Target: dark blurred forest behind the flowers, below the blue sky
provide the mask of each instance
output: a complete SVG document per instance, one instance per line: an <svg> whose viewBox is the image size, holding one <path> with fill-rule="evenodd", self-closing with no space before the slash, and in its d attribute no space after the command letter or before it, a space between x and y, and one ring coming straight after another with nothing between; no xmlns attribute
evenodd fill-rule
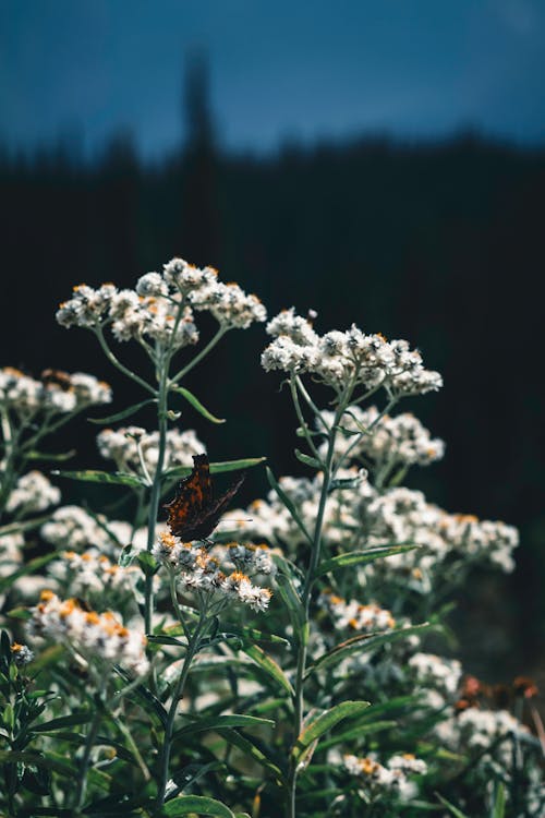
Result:
<svg viewBox="0 0 545 818"><path fill-rule="evenodd" d="M317 311L318 332L355 322L409 339L445 388L400 410L447 442L445 460L415 471L410 485L448 510L521 530L516 573L476 576L458 600L468 670L489 682L535 674L545 687L545 148L463 132L439 142L284 143L257 158L221 147L207 88L197 60L183 93L185 139L161 160L144 161L131 133L93 161L76 137L1 153L2 365L92 372L112 383L112 411L142 399L93 336L66 334L55 311L74 284L131 287L173 255L218 267L270 316L294 305ZM265 342L263 327L232 333L191 376L225 426L190 410L181 422L213 459L266 455L277 474L303 473L288 395L259 368ZM131 361L130 345L119 351ZM77 448L72 468L100 465L95 431L82 419L58 442ZM102 502L93 486L62 488L66 501L84 492ZM266 490L253 470L243 500Z"/></svg>

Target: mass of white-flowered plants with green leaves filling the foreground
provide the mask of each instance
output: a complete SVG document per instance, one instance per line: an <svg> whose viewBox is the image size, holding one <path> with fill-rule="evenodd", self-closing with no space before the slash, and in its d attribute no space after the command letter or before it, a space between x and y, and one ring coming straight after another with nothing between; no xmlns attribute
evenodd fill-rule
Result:
<svg viewBox="0 0 545 818"><path fill-rule="evenodd" d="M218 327L191 354L202 312ZM491 688L429 652L452 642L457 586L476 564L511 570L518 537L402 485L444 452L413 416L391 416L441 386L407 341L355 325L318 335L294 310L277 315L262 364L282 373L308 477L268 468L267 497L227 512L213 539L182 542L158 522L180 477L190 476L175 490L184 519L215 507L195 459L206 447L180 418L223 421L181 382L229 330L265 317L255 296L180 258L135 290L81 285L61 304L58 322L92 332L146 396L93 422L156 411L152 431L98 433L112 470L53 472L125 492L126 519L59 506L59 489L26 470L59 459L37 444L109 402L109 387L82 373L0 373L1 807L17 817L537 818L542 747L523 724L537 719L535 686L519 677ZM140 346L142 371L111 336ZM247 455L210 472L264 459Z"/></svg>

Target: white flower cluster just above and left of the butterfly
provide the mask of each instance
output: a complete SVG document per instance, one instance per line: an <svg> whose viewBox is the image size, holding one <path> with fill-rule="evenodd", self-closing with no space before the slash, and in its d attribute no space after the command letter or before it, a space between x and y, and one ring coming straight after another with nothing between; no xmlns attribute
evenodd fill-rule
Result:
<svg viewBox="0 0 545 818"><path fill-rule="evenodd" d="M159 432L146 432L141 426L105 429L97 435L100 455L113 460L119 471L142 472L140 456L146 469L154 473L159 457ZM205 446L192 429L167 431L164 469L172 466L191 466L193 455L205 452ZM140 455L138 455L140 452Z"/></svg>

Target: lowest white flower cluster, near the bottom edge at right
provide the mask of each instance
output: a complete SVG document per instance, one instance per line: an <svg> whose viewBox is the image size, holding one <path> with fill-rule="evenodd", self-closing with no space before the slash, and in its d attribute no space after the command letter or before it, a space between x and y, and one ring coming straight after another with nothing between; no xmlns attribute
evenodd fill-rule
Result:
<svg viewBox="0 0 545 818"><path fill-rule="evenodd" d="M374 798L391 798L393 801L410 801L417 794L417 786L409 780L409 775L425 775L426 762L413 755L392 756L387 766L383 766L371 757L343 756L343 766L348 773L355 775Z"/></svg>

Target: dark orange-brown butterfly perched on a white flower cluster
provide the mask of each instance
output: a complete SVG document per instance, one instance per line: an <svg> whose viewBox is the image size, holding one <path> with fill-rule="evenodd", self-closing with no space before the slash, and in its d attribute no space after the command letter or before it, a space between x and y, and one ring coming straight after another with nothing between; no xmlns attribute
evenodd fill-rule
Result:
<svg viewBox="0 0 545 818"><path fill-rule="evenodd" d="M245 477L243 472L225 494L214 500L208 457L194 455L193 471L180 481L174 498L165 504L170 532L184 542L206 541Z"/></svg>

